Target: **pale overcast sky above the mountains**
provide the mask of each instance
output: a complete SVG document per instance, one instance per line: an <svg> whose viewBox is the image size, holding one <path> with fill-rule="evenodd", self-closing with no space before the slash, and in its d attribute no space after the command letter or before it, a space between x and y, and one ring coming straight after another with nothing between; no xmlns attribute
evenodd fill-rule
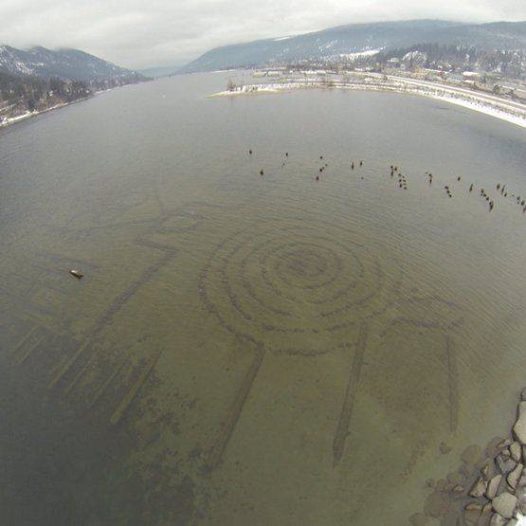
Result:
<svg viewBox="0 0 526 526"><path fill-rule="evenodd" d="M526 0L0 0L0 43L74 47L121 66L357 22L526 20Z"/></svg>

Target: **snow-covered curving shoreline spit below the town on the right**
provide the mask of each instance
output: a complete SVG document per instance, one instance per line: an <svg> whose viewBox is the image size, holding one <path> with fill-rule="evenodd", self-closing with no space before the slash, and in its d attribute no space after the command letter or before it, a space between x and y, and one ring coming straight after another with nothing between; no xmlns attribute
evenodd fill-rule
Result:
<svg viewBox="0 0 526 526"><path fill-rule="evenodd" d="M215 93L213 97L232 97L239 95L264 95L286 93L297 89L345 89L359 91L383 91L408 93L462 106L489 115L522 128L526 128L526 105L489 94L468 91L463 88L415 81L401 77L368 76L359 82L326 79L285 80L266 84L246 84L234 90Z"/></svg>

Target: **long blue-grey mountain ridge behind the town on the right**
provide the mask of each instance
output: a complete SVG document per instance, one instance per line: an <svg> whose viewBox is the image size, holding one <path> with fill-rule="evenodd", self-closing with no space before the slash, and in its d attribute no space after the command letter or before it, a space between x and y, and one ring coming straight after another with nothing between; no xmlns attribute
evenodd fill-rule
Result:
<svg viewBox="0 0 526 526"><path fill-rule="evenodd" d="M410 20L350 24L292 37L256 40L212 49L180 73L272 66L320 60L420 43L453 44L480 50L526 50L526 22L464 24Z"/></svg>

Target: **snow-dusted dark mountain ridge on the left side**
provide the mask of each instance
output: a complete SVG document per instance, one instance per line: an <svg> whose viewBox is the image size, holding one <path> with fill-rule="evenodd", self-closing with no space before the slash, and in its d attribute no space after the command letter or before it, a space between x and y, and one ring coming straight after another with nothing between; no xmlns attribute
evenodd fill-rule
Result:
<svg viewBox="0 0 526 526"><path fill-rule="evenodd" d="M0 72L83 82L108 80L112 84L146 80L136 71L116 66L84 51L50 50L40 46L29 50L0 46Z"/></svg>

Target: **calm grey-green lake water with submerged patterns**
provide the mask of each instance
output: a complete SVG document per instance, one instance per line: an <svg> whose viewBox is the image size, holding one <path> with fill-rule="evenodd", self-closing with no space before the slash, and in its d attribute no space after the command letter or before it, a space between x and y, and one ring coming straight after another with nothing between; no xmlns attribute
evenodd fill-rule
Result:
<svg viewBox="0 0 526 526"><path fill-rule="evenodd" d="M525 131L226 80L0 131L6 524L408 524L510 428Z"/></svg>

